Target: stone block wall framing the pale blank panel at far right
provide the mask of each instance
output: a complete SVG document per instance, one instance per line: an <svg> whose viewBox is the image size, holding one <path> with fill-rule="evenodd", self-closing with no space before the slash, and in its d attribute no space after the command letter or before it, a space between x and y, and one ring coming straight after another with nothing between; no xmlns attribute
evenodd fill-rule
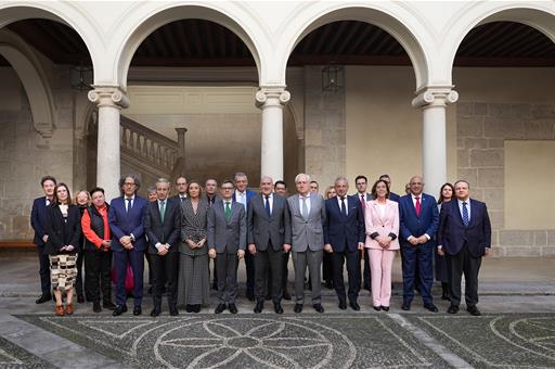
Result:
<svg viewBox="0 0 555 369"><path fill-rule="evenodd" d="M459 102L457 174L487 203L495 256L554 256L555 230L507 230L504 225L504 141L555 139L555 105Z"/></svg>

